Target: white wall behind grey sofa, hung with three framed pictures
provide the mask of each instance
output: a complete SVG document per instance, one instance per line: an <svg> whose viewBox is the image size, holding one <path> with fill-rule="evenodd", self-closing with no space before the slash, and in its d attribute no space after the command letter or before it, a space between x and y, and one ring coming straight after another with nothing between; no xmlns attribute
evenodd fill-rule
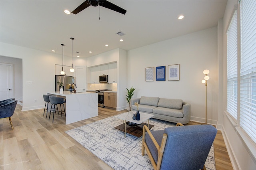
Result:
<svg viewBox="0 0 256 170"><path fill-rule="evenodd" d="M180 81L168 81L168 65L180 64ZM166 66L166 81L145 81L145 68ZM128 87L136 97L182 99L191 104L192 120L205 122L203 70L210 70L207 86L208 123L217 124L217 28L210 28L128 51ZM156 71L155 71L156 74Z"/></svg>

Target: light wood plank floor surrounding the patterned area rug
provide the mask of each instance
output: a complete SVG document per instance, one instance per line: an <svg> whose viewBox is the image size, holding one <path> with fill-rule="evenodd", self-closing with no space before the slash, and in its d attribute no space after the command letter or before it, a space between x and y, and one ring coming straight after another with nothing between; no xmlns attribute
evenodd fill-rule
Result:
<svg viewBox="0 0 256 170"><path fill-rule="evenodd" d="M9 119L0 121L0 170L112 169L65 131L123 112L99 108L99 116L65 125L64 116L54 117L52 123L43 116L43 109L22 112L17 105L12 116L14 130ZM217 170L233 169L221 131L214 140L214 152Z"/></svg>

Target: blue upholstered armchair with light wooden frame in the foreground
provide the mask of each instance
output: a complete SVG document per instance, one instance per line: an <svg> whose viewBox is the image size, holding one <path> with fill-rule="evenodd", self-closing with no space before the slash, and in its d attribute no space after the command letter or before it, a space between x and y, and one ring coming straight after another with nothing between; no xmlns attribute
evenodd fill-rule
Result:
<svg viewBox="0 0 256 170"><path fill-rule="evenodd" d="M142 155L146 152L155 170L198 170L216 136L212 125L169 127L150 131L143 127Z"/></svg>

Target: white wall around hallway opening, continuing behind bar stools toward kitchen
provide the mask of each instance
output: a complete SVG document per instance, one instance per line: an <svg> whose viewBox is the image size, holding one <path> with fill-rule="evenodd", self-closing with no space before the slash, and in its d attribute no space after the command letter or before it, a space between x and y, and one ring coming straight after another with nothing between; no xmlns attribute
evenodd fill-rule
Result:
<svg viewBox="0 0 256 170"><path fill-rule="evenodd" d="M62 64L62 55L2 42L0 55L23 61L22 111L44 108L42 95L55 90L55 64ZM64 57L64 65L71 65L71 57ZM86 59L73 57L74 65L86 65ZM33 81L33 84L26 84L26 81Z"/></svg>

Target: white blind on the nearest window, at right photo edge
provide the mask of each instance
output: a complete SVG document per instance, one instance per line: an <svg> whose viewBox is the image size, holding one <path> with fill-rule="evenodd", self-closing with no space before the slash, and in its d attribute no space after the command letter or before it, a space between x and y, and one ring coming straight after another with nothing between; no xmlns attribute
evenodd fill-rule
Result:
<svg viewBox="0 0 256 170"><path fill-rule="evenodd" d="M241 2L240 127L256 143L256 1Z"/></svg>

